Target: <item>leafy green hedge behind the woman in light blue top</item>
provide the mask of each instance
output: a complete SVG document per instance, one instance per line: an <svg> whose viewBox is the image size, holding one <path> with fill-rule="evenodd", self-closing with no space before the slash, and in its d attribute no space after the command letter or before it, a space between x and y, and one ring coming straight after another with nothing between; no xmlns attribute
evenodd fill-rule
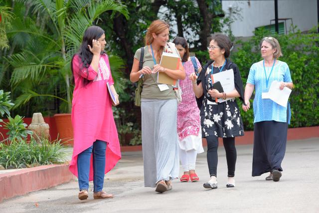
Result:
<svg viewBox="0 0 319 213"><path fill-rule="evenodd" d="M290 127L319 125L319 34L317 28L308 33L297 31L287 35L271 35L261 29L248 41L237 41L238 50L231 55L241 72L243 83L247 82L250 66L262 60L260 41L265 36L276 37L281 45L283 56L291 72L294 88L290 95L292 119ZM253 98L253 97L252 97ZM241 107L240 107L241 108ZM253 109L241 110L246 130L253 129Z"/></svg>

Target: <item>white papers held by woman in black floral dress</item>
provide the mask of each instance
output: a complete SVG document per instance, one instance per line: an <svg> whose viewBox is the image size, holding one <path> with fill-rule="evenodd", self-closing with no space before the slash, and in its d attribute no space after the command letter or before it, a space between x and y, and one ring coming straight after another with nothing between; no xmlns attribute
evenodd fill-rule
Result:
<svg viewBox="0 0 319 213"><path fill-rule="evenodd" d="M225 70L223 72L218 72L213 74L214 83L220 81L221 86L225 93L231 92L235 89L235 81L234 81L234 71L233 69ZM228 101L232 98L226 98L226 100L222 98L218 98L218 103L222 103Z"/></svg>

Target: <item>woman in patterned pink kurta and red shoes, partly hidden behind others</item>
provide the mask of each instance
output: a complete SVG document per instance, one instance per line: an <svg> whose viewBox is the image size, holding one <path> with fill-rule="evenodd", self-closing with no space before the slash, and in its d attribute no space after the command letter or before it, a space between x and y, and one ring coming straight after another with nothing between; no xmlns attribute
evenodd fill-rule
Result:
<svg viewBox="0 0 319 213"><path fill-rule="evenodd" d="M194 64L189 57L187 41L183 37L176 37L173 40L179 55L182 58L186 76L195 72ZM200 70L201 66L196 57L193 57L195 65ZM182 102L177 106L177 133L179 139L179 159L184 174L180 182L197 182L198 176L195 173L196 157L198 153L204 152L201 141L201 127L199 109L189 78L179 81L182 91Z"/></svg>

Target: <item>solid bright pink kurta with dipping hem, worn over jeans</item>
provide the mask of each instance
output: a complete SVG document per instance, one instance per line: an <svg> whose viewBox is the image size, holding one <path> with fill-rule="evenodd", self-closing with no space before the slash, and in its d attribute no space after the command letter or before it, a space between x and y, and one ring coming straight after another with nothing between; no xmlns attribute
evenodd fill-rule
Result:
<svg viewBox="0 0 319 213"><path fill-rule="evenodd" d="M101 55L99 72L96 73L91 66L82 67L81 59L76 55L73 59L73 75L75 88L72 100L72 126L74 132L73 155L70 163L70 171L78 176L78 155L93 145L96 140L106 141L105 173L109 172L121 159L118 132L115 126L111 98L106 83L114 84L109 58ZM93 80L85 87L83 78ZM93 181L93 157L90 162L89 180Z"/></svg>

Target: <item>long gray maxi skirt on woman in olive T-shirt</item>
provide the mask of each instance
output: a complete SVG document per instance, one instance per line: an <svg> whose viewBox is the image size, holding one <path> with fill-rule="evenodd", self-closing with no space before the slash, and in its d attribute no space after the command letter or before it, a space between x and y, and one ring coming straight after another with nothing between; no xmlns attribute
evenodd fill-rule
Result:
<svg viewBox="0 0 319 213"><path fill-rule="evenodd" d="M177 100L142 99L144 186L178 178Z"/></svg>

